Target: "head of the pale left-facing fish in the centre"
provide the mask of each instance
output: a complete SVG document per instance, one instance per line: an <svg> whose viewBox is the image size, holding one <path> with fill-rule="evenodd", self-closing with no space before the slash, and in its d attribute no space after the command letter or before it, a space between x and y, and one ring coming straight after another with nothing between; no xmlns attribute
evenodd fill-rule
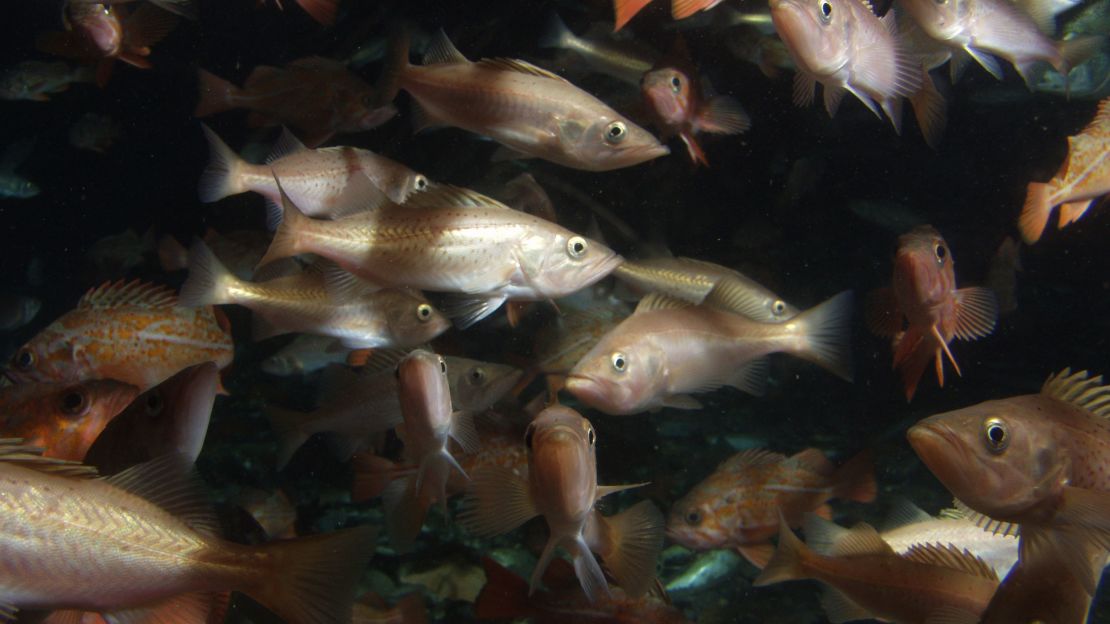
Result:
<svg viewBox="0 0 1110 624"><path fill-rule="evenodd" d="M654 342L622 331L607 333L571 369L566 390L578 401L612 415L658 406L666 359Z"/></svg>

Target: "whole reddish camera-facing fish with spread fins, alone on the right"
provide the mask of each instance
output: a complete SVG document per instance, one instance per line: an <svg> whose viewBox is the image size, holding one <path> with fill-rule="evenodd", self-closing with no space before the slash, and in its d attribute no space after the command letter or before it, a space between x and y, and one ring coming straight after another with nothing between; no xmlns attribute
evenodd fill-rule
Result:
<svg viewBox="0 0 1110 624"><path fill-rule="evenodd" d="M911 401L925 369L932 361L945 386L945 358L962 375L948 343L976 340L995 331L998 299L982 286L956 288L950 248L931 225L919 225L898 238L894 284L874 291L867 302L867 325L890 336L894 368L901 371L906 401Z"/></svg>

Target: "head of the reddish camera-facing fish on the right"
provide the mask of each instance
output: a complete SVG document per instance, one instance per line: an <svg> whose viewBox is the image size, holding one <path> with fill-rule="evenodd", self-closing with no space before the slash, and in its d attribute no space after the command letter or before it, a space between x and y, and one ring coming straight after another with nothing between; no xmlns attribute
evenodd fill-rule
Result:
<svg viewBox="0 0 1110 624"><path fill-rule="evenodd" d="M895 294L901 302L936 305L956 288L948 243L931 225L919 225L898 238Z"/></svg>

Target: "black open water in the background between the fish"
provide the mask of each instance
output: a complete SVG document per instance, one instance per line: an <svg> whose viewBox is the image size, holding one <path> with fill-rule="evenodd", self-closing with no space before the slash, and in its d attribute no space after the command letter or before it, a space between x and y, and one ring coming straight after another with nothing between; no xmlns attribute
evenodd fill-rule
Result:
<svg viewBox="0 0 1110 624"><path fill-rule="evenodd" d="M666 7L657 3L632 29L637 38L665 51L674 31ZM576 32L610 19L610 7L601 0L356 0L344 3L334 28L324 29L289 7L289 1L284 12L273 7L256 9L251 0L202 0L200 4L200 21L181 23L154 48L154 69L120 66L103 90L79 85L50 103L0 105L0 142L36 140L20 171L43 189L30 200L0 200L0 290L32 294L44 302L30 326L2 336L6 349L14 349L69 310L99 280L124 276L98 274L90 264L92 243L105 235L129 228L141 235L153 229L157 234L189 241L206 228L262 227L263 202L256 195L216 204L201 204L196 199L196 180L208 160L199 123L192 118L198 68L241 82L259 64L281 66L307 54L344 58L380 42L389 23L401 19L426 31L443 28L472 59L511 57L543 64L553 54L537 49L536 38L549 9L558 9ZM6 64L34 58L34 32L57 27L57 7L9 0L0 19ZM899 137L850 98L835 119L818 105L794 107L789 74L769 80L754 66L734 59L725 47L730 36L714 27L685 31L703 76L719 92L737 98L753 119L751 130L740 137L705 142L712 162L708 169L694 168L677 140L670 143L669 157L606 173L542 161L492 163L496 145L462 130L414 135L404 99L398 119L330 144L372 149L432 180L480 189L529 171L549 189L568 222L585 223L587 208L545 181L585 193L640 235L665 242L675 255L738 268L787 301L808 308L846 289L861 301L870 289L889 282L897 234L856 215L850 207L860 201L897 204L924 215L947 239L960 284L982 283L1001 241L1017 236L1015 223L1026 184L1056 172L1067 151L1064 138L1086 125L1097 105L1092 100L1026 92L1009 68L1003 84L971 68L947 89L948 128L940 148L932 150L908 114ZM380 64L372 63L357 73L373 82L379 70ZM604 78L591 78L581 85L638 119L635 90ZM109 114L122 125L120 141L107 154L78 151L67 143L69 124L89 111ZM249 138L276 134L248 130L244 117L225 113L208 122L234 147ZM807 184L788 188L790 172L798 168L816 173L808 175ZM604 223L602 229L617 251L635 253L618 233ZM948 383L940 390L928 372L909 404L890 370L889 345L871 335L857 314L854 383L776 356L771 389L765 397L726 389L704 396L706 407L697 413L665 410L606 416L584 410L599 432L599 481L657 482L646 495L666 511L735 452L726 439L746 436L779 452L818 446L841 459L874 449L879 500L875 505L837 506L841 524L881 519L895 493L929 511L946 506L949 494L917 461L905 442L905 429L941 411L1033 392L1049 373L1064 366L1110 371L1108 234L1107 211L1092 210L1063 232L1050 229L1036 245L1022 246L1017 310L1003 316L990 336L953 344L963 376L949 370ZM41 266L42 275L33 284L27 275L32 263ZM150 252L127 276L174 286L183 279L182 274L163 274ZM281 487L295 502L297 526L304 532L381 522L377 502L347 502L349 471L332 461L321 444L310 443L286 470L273 470L274 439L261 410L266 402L311 403L306 396L312 380L278 384L259 372L258 363L283 341L252 344L246 339L246 314L235 310L231 315L235 335L243 336L236 341L235 364L225 374L232 395L218 402L199 461L218 496L242 485ZM450 340L497 360L526 353L529 338L486 322ZM221 511L226 519L234 517L229 509ZM229 524L234 523L229 520ZM239 524L229 530L232 539L249 537ZM403 568L435 567L447 560L473 565L494 547L523 552L524 536L524 531L517 531L492 541L475 540L433 512L415 553L398 556L383 541L366 584L381 590L389 585L384 577L396 583ZM664 581L680 572L680 564L662 568ZM753 588L754 575L754 568L740 564L715 585L674 596L675 604L697 622L824 621L816 585ZM264 621L266 615L248 603L236 601L233 616ZM441 601L428 592L427 604L440 621L471 617L464 602ZM1099 601L1092 621L1110 622L1108 614Z"/></svg>

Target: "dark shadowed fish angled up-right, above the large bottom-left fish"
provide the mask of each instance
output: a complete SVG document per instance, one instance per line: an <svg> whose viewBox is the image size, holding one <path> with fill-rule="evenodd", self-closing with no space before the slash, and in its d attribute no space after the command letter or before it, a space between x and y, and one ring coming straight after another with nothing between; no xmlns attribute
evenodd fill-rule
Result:
<svg viewBox="0 0 1110 624"><path fill-rule="evenodd" d="M195 462L219 389L215 363L184 369L131 401L89 446L83 463L115 474L163 455Z"/></svg>

